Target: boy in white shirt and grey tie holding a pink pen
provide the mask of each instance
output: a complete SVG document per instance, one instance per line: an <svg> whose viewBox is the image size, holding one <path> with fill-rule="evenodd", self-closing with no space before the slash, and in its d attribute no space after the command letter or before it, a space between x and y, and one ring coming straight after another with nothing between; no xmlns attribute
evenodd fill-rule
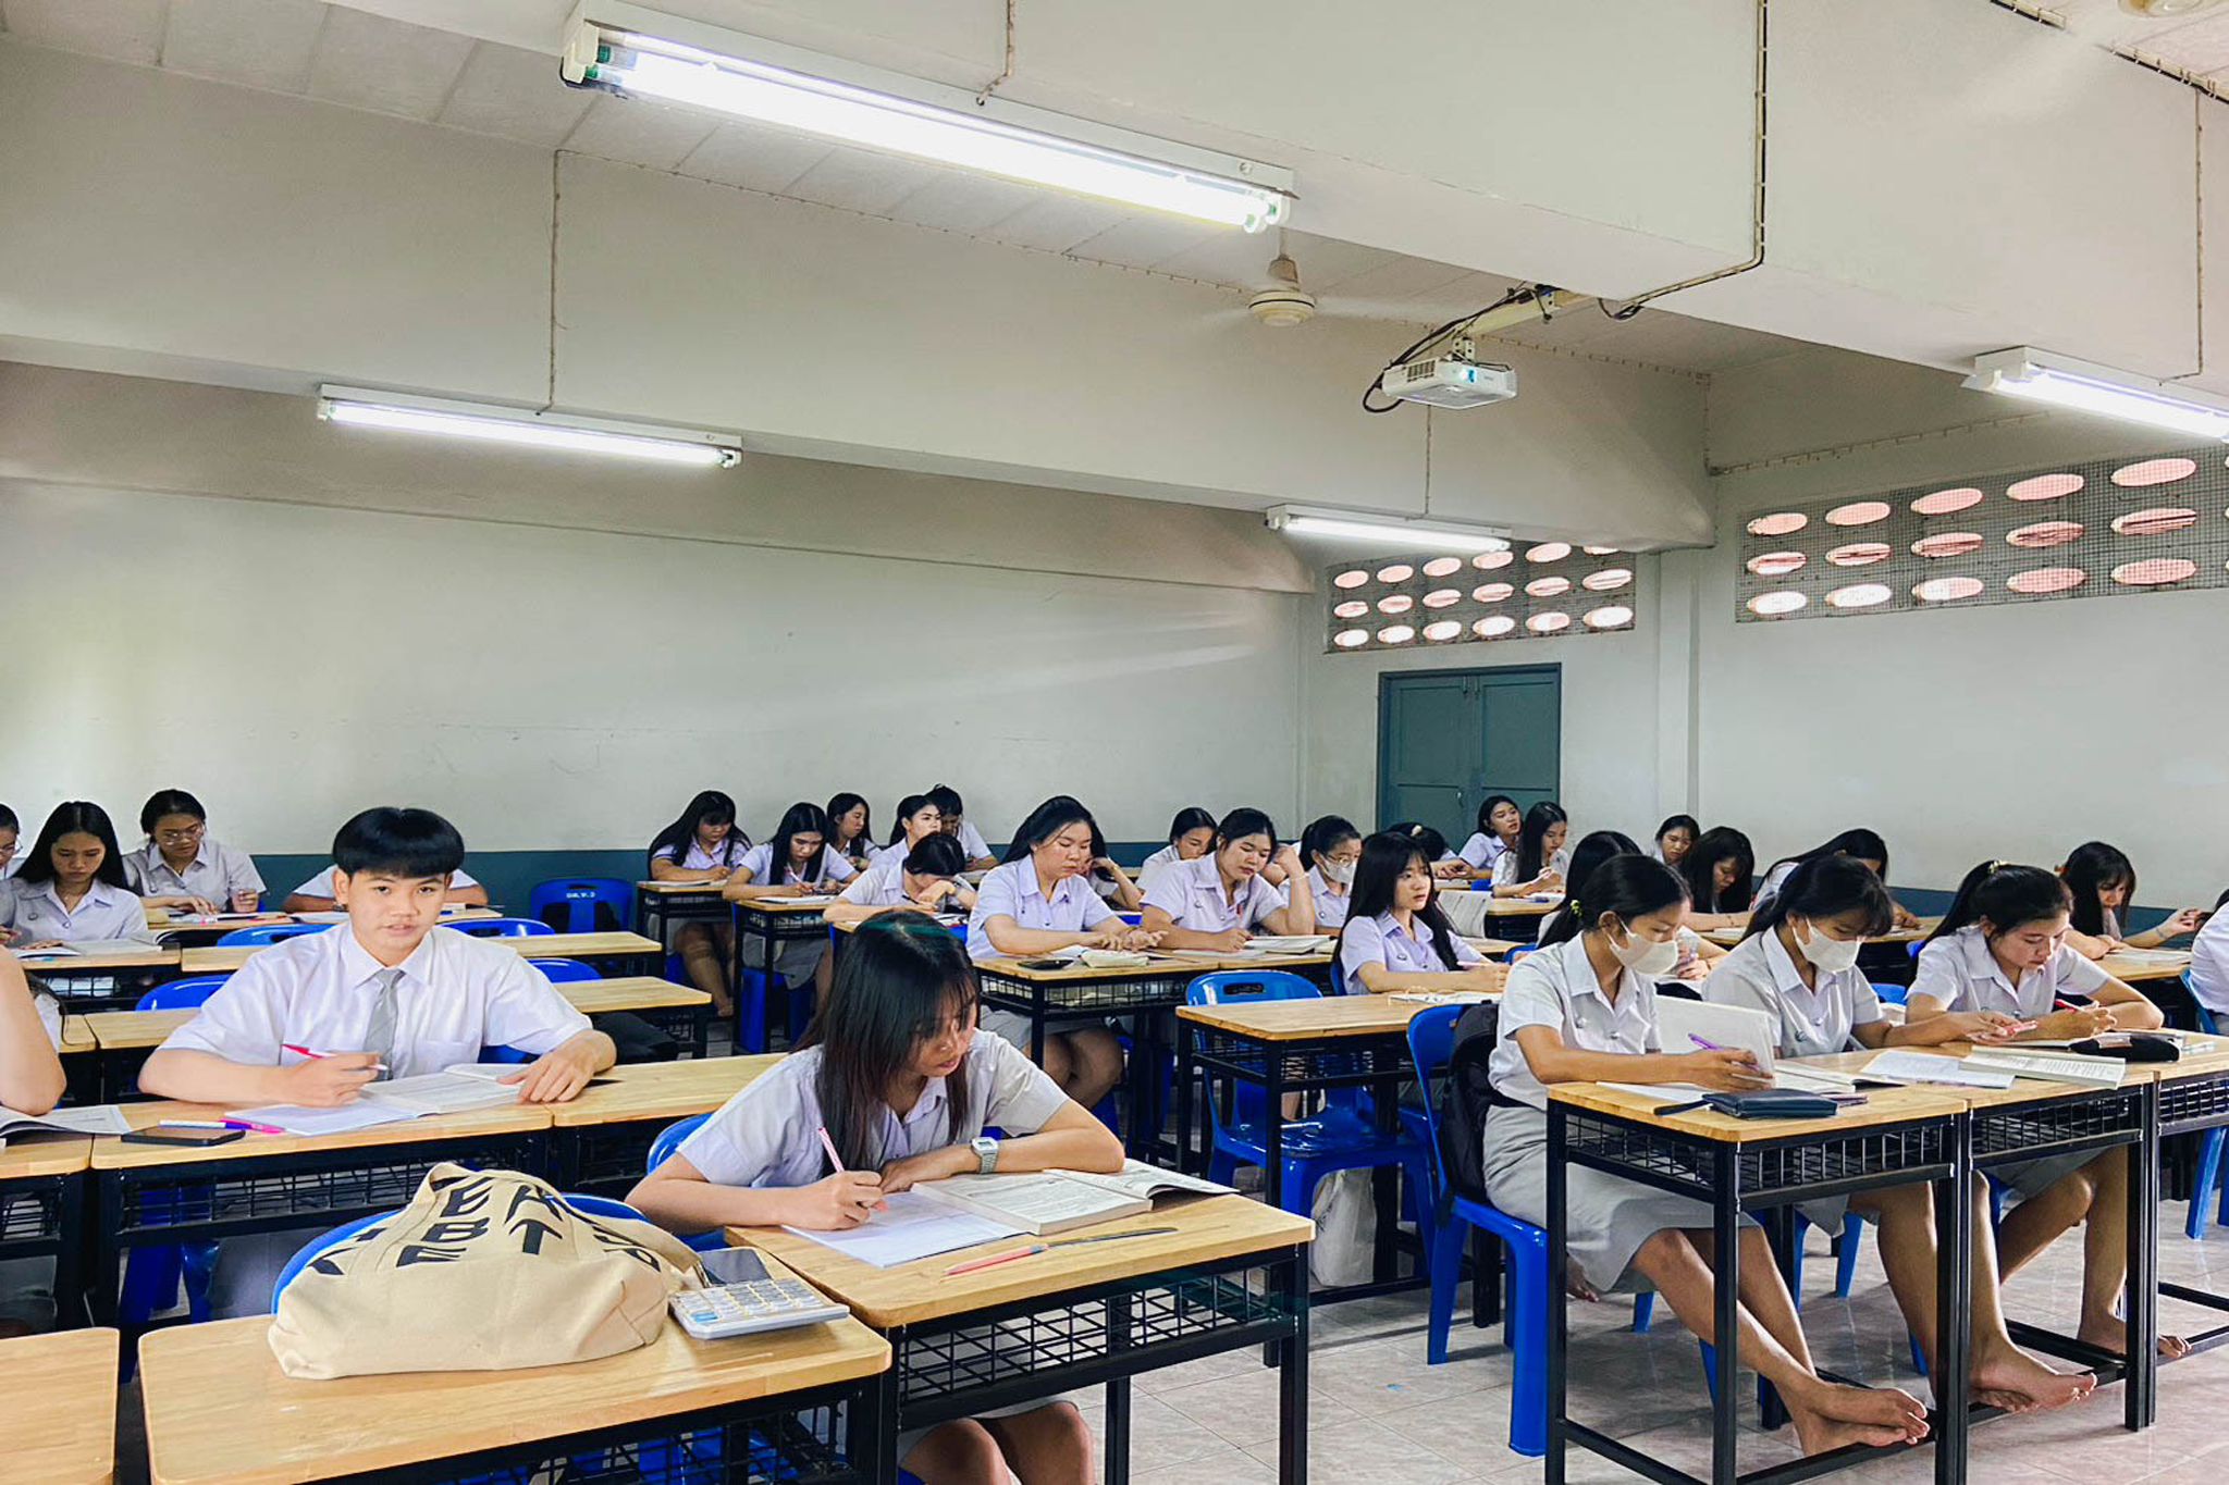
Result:
<svg viewBox="0 0 2229 1485"><path fill-rule="evenodd" d="M504 1082L524 1102L566 1102L613 1064L611 1037L588 1026L526 955L441 928L448 877L464 859L457 828L432 810L363 810L332 842L345 924L247 957L147 1058L140 1089L230 1109L354 1102L383 1078L477 1062L481 1046L535 1060ZM330 1051L301 1058L288 1046ZM270 1309L285 1258L319 1229L218 1247L212 1307Z"/></svg>

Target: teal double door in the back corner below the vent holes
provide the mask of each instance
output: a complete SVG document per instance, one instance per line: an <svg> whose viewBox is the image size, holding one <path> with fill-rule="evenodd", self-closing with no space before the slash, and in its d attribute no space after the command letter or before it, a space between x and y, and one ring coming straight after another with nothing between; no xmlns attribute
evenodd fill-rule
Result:
<svg viewBox="0 0 2229 1485"><path fill-rule="evenodd" d="M1378 677L1378 824L1420 819L1460 846L1487 795L1556 797L1560 666Z"/></svg>

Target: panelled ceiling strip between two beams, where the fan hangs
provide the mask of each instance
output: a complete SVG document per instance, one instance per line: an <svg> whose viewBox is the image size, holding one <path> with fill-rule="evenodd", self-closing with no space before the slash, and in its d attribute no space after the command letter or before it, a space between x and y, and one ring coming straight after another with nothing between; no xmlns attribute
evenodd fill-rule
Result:
<svg viewBox="0 0 2229 1485"><path fill-rule="evenodd" d="M564 7L555 9L562 16ZM0 0L0 31L36 47L1213 283L1233 292L1230 314L1242 314L1242 296L1266 283L1264 269L1277 252L1268 236L1197 227L782 129L575 91L557 80L546 53L323 0ZM1286 252L1300 263L1320 314L1389 321L1389 356L1406 343L1391 325L1456 318L1516 283L1308 232L1288 234ZM1306 334L1306 327L1264 334ZM1696 374L1808 347L1805 341L1670 312L1614 323L1592 307L1549 325L1509 330L1500 338Z"/></svg>

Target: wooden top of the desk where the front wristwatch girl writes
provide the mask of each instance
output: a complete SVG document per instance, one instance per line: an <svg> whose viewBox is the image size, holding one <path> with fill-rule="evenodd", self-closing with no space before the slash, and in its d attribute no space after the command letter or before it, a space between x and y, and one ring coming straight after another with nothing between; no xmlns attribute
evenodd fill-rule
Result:
<svg viewBox="0 0 2229 1485"><path fill-rule="evenodd" d="M729 1227L729 1242L749 1242L798 1271L823 1294L851 1307L867 1325L892 1327L936 1320L970 1309L1028 1300L1083 1285L1106 1285L1161 1269L1259 1253L1315 1238L1315 1222L1277 1211L1244 1196L1164 1198L1152 1211L1119 1222L1101 1222L1063 1236L1106 1236L1146 1227L1175 1227L1157 1238L1128 1242L1086 1242L1059 1247L1032 1258L1016 1258L974 1273L945 1276L956 1262L1025 1247L1032 1238L999 1238L952 1253L934 1253L914 1262L878 1269L847 1258L811 1238L780 1227Z"/></svg>

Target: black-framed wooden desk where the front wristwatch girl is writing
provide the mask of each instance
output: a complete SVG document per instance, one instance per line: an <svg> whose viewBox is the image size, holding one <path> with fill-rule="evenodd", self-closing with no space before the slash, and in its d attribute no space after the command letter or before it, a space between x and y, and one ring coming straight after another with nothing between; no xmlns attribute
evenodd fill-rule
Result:
<svg viewBox="0 0 2229 1485"><path fill-rule="evenodd" d="M1090 1242L945 1276L956 1262L1014 1247L1014 1238L876 1269L778 1227L731 1227L805 1280L885 1331L883 1427L967 1418L1028 1376L1043 1396L1106 1383L1106 1474L1126 1481L1130 1378L1246 1347L1275 1345L1279 1365L1279 1481L1306 1481L1308 1242L1315 1225L1244 1196L1166 1200L1150 1216L1094 1231L1175 1227L1135 1242ZM990 1394L990 1396L985 1396ZM1003 1400L1014 1400L1003 1396ZM878 1461L894 1478L896 1458Z"/></svg>

